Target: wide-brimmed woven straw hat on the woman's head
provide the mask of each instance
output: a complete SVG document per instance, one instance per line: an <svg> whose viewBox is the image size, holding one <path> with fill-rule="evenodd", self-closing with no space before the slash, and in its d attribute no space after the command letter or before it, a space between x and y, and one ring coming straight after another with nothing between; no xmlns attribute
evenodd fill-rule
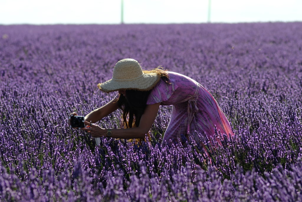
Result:
<svg viewBox="0 0 302 202"><path fill-rule="evenodd" d="M98 84L98 88L106 93L118 90L151 90L160 79L156 72L143 73L143 69L134 59L118 61L113 69L112 79Z"/></svg>

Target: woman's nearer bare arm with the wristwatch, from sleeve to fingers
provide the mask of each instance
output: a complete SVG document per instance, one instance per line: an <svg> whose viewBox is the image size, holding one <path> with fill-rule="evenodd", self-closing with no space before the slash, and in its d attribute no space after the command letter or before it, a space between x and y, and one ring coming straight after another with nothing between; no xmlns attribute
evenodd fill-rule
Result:
<svg viewBox="0 0 302 202"><path fill-rule="evenodd" d="M159 110L159 105L160 103L147 105L145 112L140 119L140 125L138 127L111 129L111 137L121 139L144 138L145 134L148 133L152 124L154 123L154 120ZM89 125L88 122L85 122L85 124ZM107 129L101 128L95 124L92 124L91 128L81 128L81 130L91 131L92 137L107 136Z"/></svg>

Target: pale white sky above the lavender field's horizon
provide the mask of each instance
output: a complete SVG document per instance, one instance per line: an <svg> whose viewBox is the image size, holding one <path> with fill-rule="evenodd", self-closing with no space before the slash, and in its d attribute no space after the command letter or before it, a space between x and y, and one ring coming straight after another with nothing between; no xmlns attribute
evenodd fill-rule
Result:
<svg viewBox="0 0 302 202"><path fill-rule="evenodd" d="M124 23L302 21L302 0L124 0ZM121 0L0 0L0 25L120 24Z"/></svg>

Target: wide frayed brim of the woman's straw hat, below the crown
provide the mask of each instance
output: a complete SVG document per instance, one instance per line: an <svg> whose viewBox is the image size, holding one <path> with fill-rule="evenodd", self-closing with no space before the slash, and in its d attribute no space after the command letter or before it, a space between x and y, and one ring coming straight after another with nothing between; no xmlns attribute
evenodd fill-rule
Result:
<svg viewBox="0 0 302 202"><path fill-rule="evenodd" d="M118 90L149 91L157 84L159 79L160 74L158 73L144 73L142 77L129 81L110 79L98 84L98 88L106 93Z"/></svg>

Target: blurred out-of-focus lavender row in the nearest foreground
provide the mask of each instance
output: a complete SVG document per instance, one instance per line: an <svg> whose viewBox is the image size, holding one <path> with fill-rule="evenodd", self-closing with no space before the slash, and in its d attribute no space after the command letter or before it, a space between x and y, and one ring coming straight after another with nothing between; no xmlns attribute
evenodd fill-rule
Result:
<svg viewBox="0 0 302 202"><path fill-rule="evenodd" d="M106 184L96 183L99 175L93 177L83 169L83 162L75 162L72 173L66 166L56 174L55 169L44 169L37 177L37 170L25 177L23 162L20 159L18 169L21 173L7 174L0 170L0 191L2 200L8 201L301 201L302 161L298 159L291 171L282 166L272 172L265 172L265 177L255 170L243 172L237 167L230 180L224 179L214 167L207 171L196 170L196 177L191 176L189 166L179 171L168 170L159 177L148 174L146 165L140 163L140 175L134 172L130 181L125 181L124 172L116 171L105 175ZM14 170L12 170L14 172ZM123 188L126 184L127 189Z"/></svg>

